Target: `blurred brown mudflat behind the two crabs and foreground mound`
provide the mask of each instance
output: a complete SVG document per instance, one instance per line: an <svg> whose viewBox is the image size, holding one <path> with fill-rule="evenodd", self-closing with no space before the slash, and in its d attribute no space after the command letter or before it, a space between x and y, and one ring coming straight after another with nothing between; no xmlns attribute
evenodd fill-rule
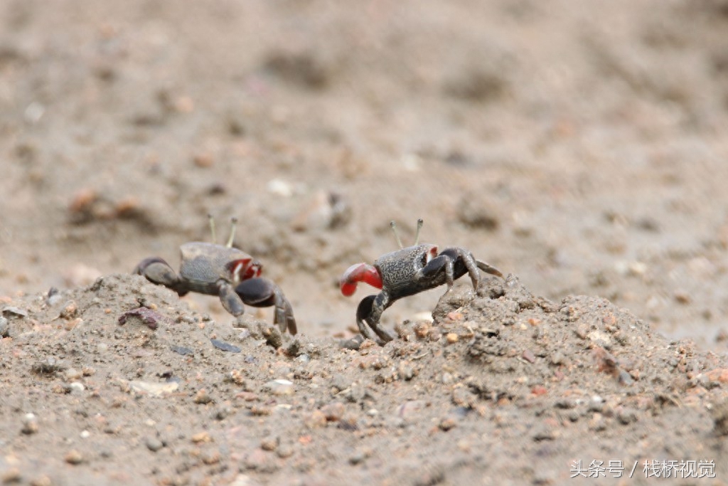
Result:
<svg viewBox="0 0 728 486"><path fill-rule="evenodd" d="M0 0L0 157L6 301L177 267L211 213L302 332L346 335L373 292L339 275L422 217L534 294L728 347L726 0Z"/></svg>

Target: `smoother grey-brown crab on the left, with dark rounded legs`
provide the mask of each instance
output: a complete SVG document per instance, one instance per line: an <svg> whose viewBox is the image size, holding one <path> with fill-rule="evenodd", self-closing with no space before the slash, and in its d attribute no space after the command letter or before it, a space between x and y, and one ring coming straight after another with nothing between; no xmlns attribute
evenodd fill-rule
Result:
<svg viewBox="0 0 728 486"><path fill-rule="evenodd" d="M281 332L296 334L293 309L280 288L261 277L262 265L244 251L233 248L237 219L231 219L230 237L226 245L215 242L215 220L210 218L213 243L194 241L180 246L179 274L158 256L143 259L133 273L153 283L169 287L181 296L188 292L217 295L225 310L239 317L245 304L253 307L275 306L274 324Z"/></svg>

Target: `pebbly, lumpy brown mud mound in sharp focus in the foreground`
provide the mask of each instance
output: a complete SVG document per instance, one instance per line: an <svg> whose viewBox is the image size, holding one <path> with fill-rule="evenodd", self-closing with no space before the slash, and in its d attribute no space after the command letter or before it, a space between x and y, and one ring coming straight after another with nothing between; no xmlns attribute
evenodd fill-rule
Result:
<svg viewBox="0 0 728 486"><path fill-rule="evenodd" d="M384 347L304 323L277 347L269 323L216 323L133 275L2 308L4 482L728 477L724 359L513 275L456 286Z"/></svg>

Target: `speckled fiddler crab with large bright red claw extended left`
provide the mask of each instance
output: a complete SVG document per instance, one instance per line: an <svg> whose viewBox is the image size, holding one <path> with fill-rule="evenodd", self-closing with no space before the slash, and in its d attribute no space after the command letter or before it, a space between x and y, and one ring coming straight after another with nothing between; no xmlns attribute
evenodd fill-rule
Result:
<svg viewBox="0 0 728 486"><path fill-rule="evenodd" d="M379 325L379 318L381 318L381 313L397 299L434 289L443 283L448 286L445 291L447 294L452 289L454 281L466 273L470 275L473 288L478 289L480 283L478 269L503 278L503 274L498 269L491 267L486 262L476 260L465 248L454 246L438 253L438 247L435 245L418 244L422 224L422 219L418 219L414 245L404 248L402 240L397 234L395 222L392 221L390 226L395 233L400 249L380 256L371 265L353 264L339 279L341 294L347 297L354 294L359 282L365 282L381 289L377 295L364 297L357 307L359 331L364 337L379 342L379 344L395 338L387 329L383 329ZM376 333L379 340L373 336L372 331Z"/></svg>

